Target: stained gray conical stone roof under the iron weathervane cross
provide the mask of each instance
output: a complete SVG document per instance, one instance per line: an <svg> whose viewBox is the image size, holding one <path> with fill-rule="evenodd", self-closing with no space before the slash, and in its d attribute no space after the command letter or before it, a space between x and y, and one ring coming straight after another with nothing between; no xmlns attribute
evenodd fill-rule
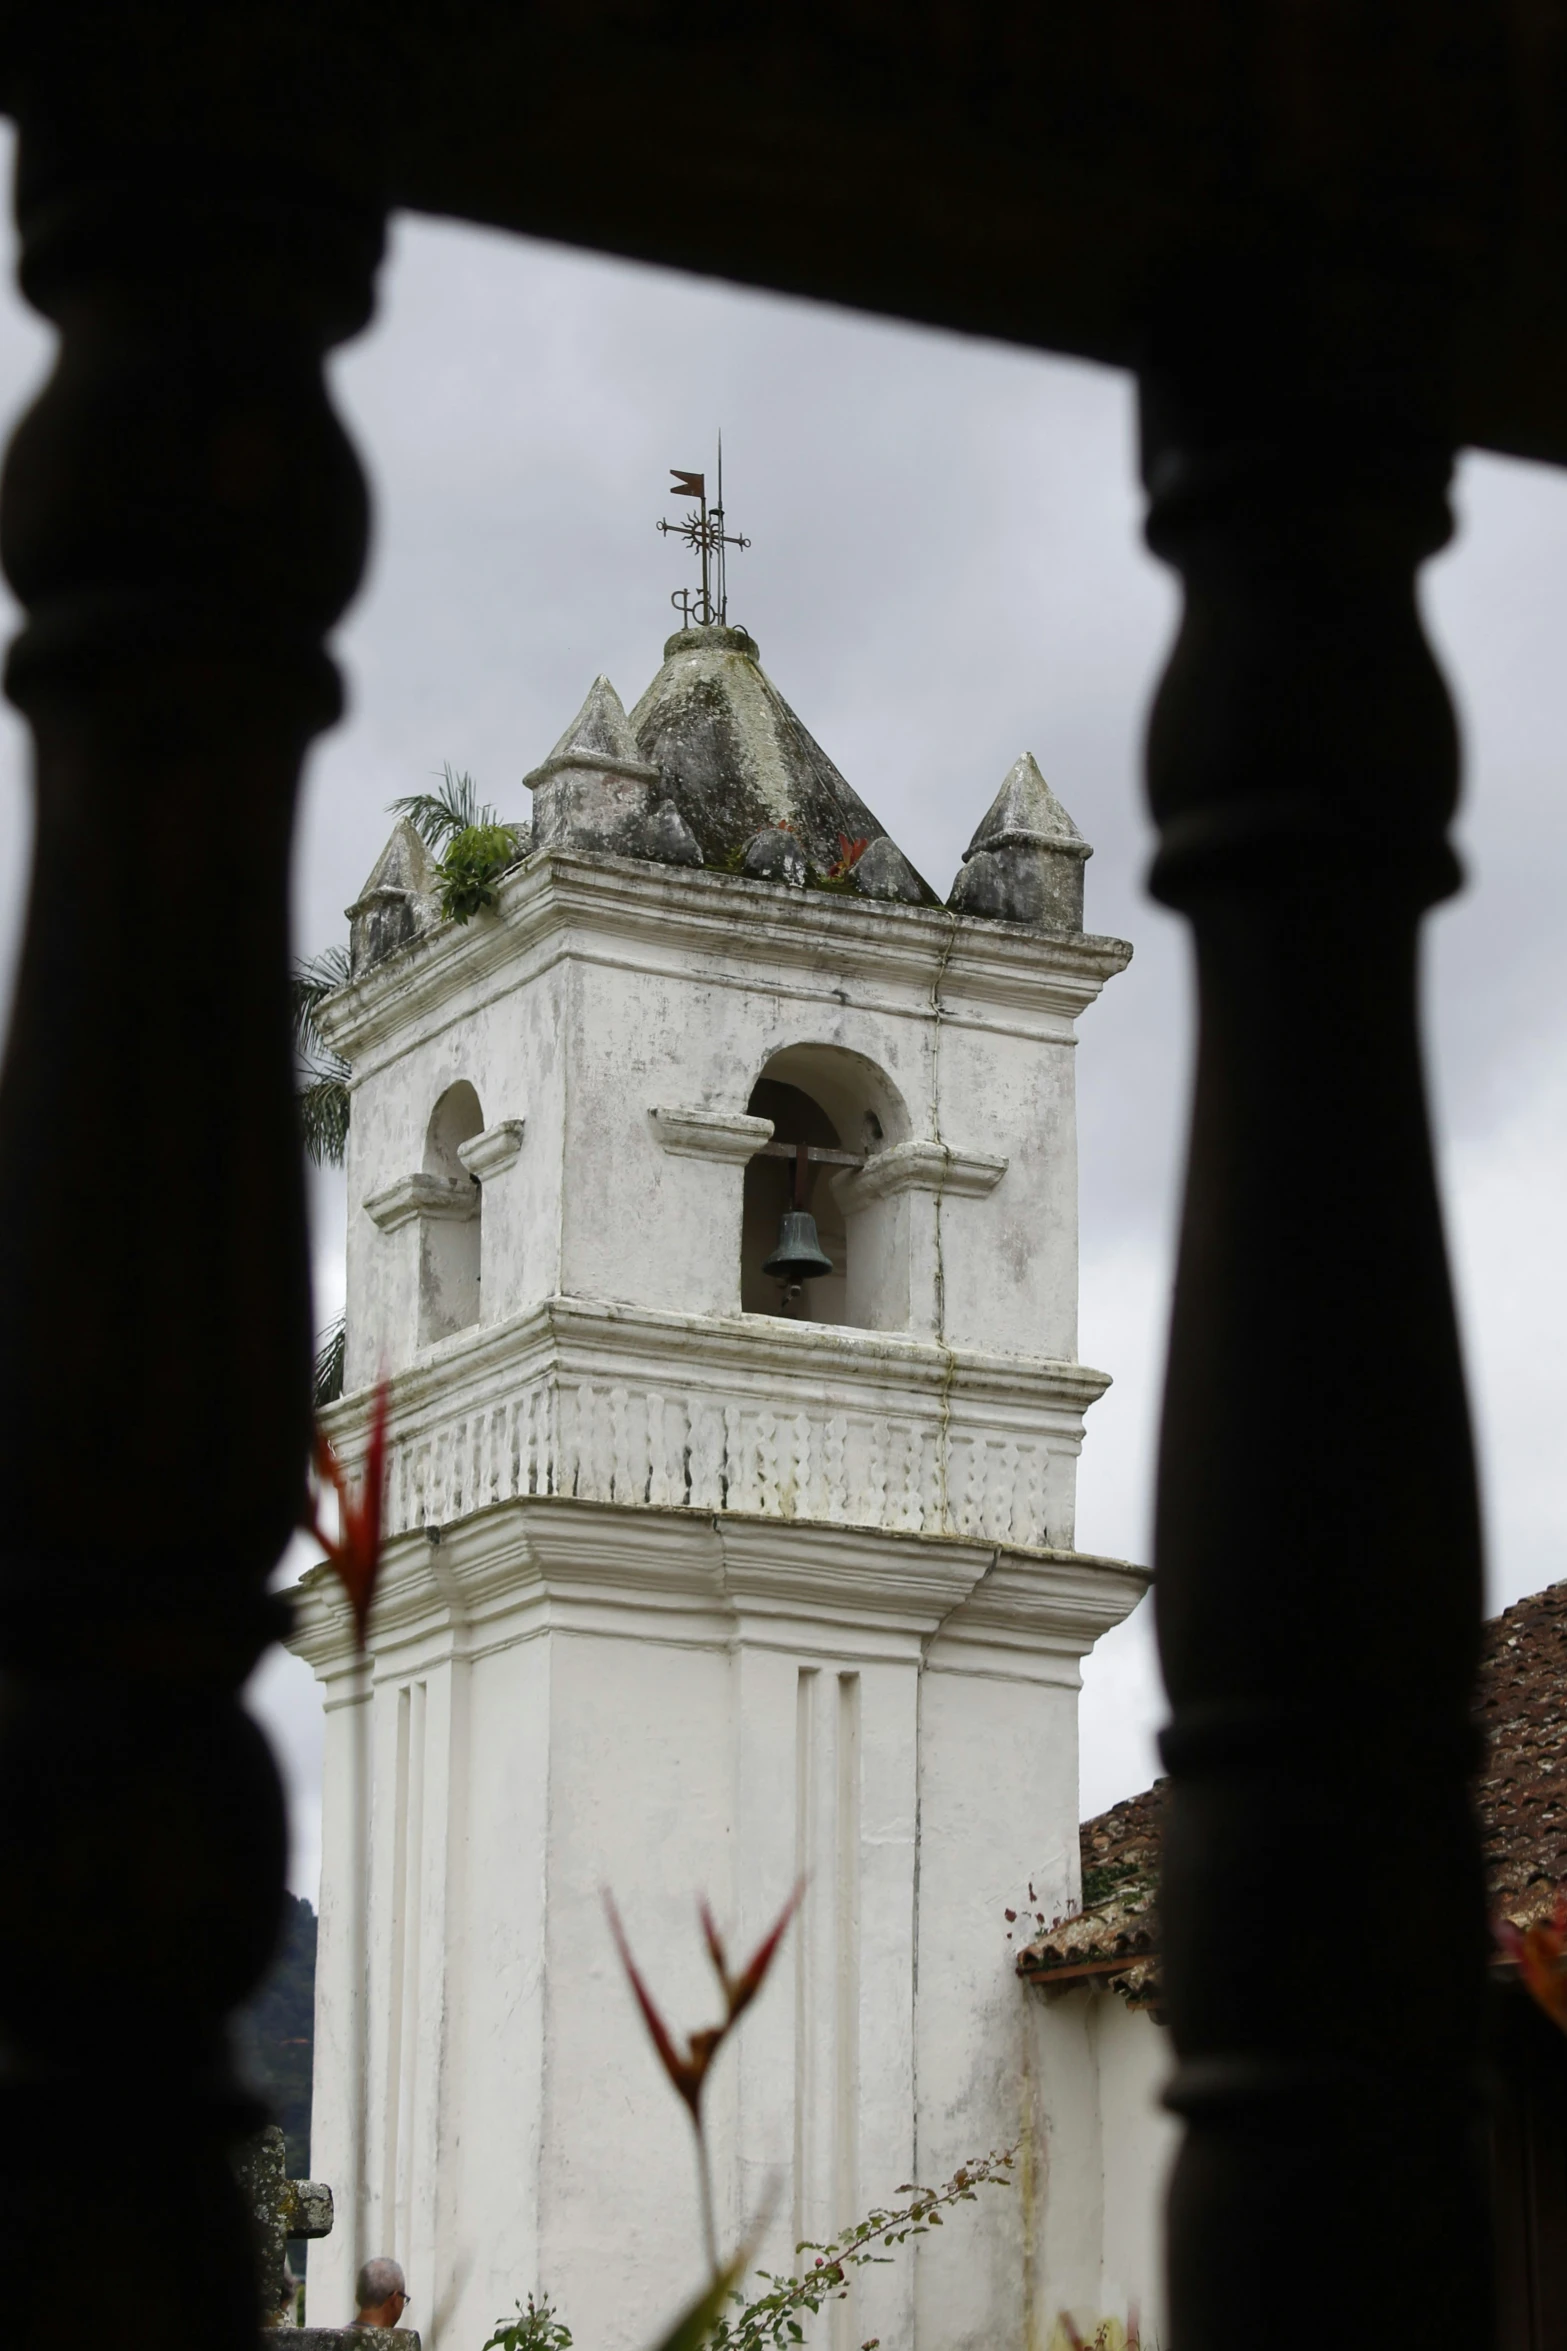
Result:
<svg viewBox="0 0 1567 2351"><path fill-rule="evenodd" d="M801 726L742 628L681 628L632 710L637 752L663 771L707 865L735 863L768 825L787 825L827 872L850 842L886 825ZM909 868L912 870L912 868ZM921 882L923 900L937 905Z"/></svg>

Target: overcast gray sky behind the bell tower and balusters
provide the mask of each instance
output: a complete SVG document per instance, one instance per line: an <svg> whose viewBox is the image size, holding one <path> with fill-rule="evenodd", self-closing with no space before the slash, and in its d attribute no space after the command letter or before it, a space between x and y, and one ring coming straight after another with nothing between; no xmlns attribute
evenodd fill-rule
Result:
<svg viewBox="0 0 1567 2351"><path fill-rule="evenodd" d="M9 266L5 287L9 423L49 336L9 294ZM442 759L522 816L522 773L599 670L630 708L684 578L653 531L677 513L667 468L705 465L719 426L731 520L754 541L731 562L731 616L937 889L1010 762L1036 752L1095 844L1090 929L1137 950L1081 1025L1081 1352L1116 1385L1088 1425L1078 1545L1144 1559L1189 983L1182 926L1142 889L1139 734L1175 592L1139 543L1128 383L430 221L397 226L378 322L334 360L334 381L376 538L338 642L350 717L310 762L301 950L343 936L388 802ZM1471 891L1431 926L1428 1037L1504 1603L1567 1573L1567 477L1466 458L1457 503L1426 611L1464 719ZM7 980L26 823L7 710ZM211 1046L190 1034L193 1053ZM341 1225L338 1185L317 1185L322 1317L341 1298ZM1353 1411L1349 1394L1323 1396L1302 1444L1332 1446ZM1257 1578L1266 1603L1266 1547ZM1156 1768L1146 1615L1085 1669L1085 1813ZM312 1893L315 1683L277 1660L258 1702L296 1794L296 1886Z"/></svg>

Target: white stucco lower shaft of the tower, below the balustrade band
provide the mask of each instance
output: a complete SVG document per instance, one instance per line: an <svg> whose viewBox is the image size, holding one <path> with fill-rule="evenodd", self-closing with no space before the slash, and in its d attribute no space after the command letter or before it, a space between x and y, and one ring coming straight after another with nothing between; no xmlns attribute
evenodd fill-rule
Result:
<svg viewBox="0 0 1567 2351"><path fill-rule="evenodd" d="M740 1947L806 1878L709 2111L731 2241L775 2208L759 2259L787 2266L799 2236L914 2172L1013 2144L1029 1996L1001 1911L1038 1808L984 1789L1022 1770L1071 1815L1076 1655L1135 1589L1083 1559L550 1498L399 1538L374 1697L334 1707L329 1737L317 2146L359 2193L312 2257L317 2316L392 2250L432 2351L482 2342L540 2283L583 2344L632 2351L691 2283L686 2123L604 1886L691 2027L714 2005L698 1893ZM961 1636L970 1606L984 1643ZM301 1615L303 1653L352 1690L322 1570ZM338 1838L366 1761L355 1914ZM921 2257L919 2309L912 2259L869 2271L832 2342L994 2342L1022 2295L1020 2226L1013 2203L963 2212L963 2259Z"/></svg>

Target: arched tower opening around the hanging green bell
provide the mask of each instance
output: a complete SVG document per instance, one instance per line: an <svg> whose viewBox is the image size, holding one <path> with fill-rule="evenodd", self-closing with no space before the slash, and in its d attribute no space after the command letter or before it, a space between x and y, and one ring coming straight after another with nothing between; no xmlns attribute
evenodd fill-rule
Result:
<svg viewBox="0 0 1567 2351"><path fill-rule="evenodd" d="M773 1121L773 1143L815 1145L848 1152L855 1159L902 1143L909 1119L895 1086L860 1053L843 1046L785 1046L761 1070L745 1105L756 1119ZM865 1284L850 1270L853 1218L836 1197L834 1164L808 1164L803 1206L832 1272L785 1291L764 1262L778 1248L778 1227L794 1199L796 1166L787 1159L756 1154L745 1168L745 1213L740 1225L740 1307L745 1314L785 1314L792 1321L848 1324L886 1328L879 1300L865 1295Z"/></svg>

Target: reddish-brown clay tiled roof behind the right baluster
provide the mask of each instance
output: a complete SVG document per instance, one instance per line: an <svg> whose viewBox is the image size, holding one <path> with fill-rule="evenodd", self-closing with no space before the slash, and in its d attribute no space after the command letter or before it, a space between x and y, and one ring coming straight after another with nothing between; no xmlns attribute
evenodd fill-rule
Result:
<svg viewBox="0 0 1567 2351"><path fill-rule="evenodd" d="M1475 1787L1485 1886L1497 1918L1532 1925L1567 1888L1567 1582L1515 1601L1485 1627L1485 1768ZM1017 1954L1017 1972L1062 1987L1104 1977L1158 2003L1158 1838L1168 1780L1085 1820L1083 1909Z"/></svg>

